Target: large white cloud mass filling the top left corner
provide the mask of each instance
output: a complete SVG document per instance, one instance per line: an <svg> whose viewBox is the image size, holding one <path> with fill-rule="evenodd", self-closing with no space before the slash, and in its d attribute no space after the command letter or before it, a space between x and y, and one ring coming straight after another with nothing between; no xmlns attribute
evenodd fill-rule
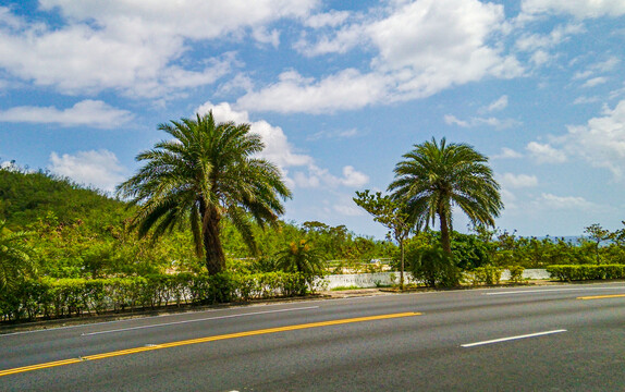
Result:
<svg viewBox="0 0 625 392"><path fill-rule="evenodd" d="M279 33L266 25L304 17L317 5L317 0L258 0L254 7L246 0L158 7L148 0L41 0L41 11L62 15L58 26L27 23L0 8L0 68L62 93L117 89L161 97L212 84L232 69L234 59L228 54L181 61L188 41L243 39L250 30L258 41L277 46Z"/></svg>

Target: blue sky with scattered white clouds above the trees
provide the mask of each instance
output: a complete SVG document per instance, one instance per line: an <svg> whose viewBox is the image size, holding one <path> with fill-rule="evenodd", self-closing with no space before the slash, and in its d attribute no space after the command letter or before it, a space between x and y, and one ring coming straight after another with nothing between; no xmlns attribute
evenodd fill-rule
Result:
<svg viewBox="0 0 625 392"><path fill-rule="evenodd" d="M209 110L261 135L298 224L383 238L355 192L442 137L489 157L501 231L625 220L623 0L0 1L0 164L112 193Z"/></svg>

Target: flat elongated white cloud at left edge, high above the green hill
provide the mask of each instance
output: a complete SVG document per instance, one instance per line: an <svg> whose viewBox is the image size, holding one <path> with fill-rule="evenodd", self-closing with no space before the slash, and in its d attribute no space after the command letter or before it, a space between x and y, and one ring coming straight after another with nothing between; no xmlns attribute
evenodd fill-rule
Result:
<svg viewBox="0 0 625 392"><path fill-rule="evenodd" d="M99 100L83 100L69 109L54 107L14 107L0 111L0 122L60 124L113 128L128 123L134 115Z"/></svg>

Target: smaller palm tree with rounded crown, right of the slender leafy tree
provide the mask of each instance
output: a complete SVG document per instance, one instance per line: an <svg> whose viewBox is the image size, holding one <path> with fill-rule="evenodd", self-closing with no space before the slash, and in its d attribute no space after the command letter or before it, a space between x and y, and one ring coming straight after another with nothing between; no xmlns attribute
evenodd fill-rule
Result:
<svg viewBox="0 0 625 392"><path fill-rule="evenodd" d="M406 203L412 219L428 225L439 218L441 245L451 255L452 208L459 207L474 225L494 226L503 209L488 158L466 144L431 142L415 145L395 166L389 185ZM420 224L420 223L419 223Z"/></svg>

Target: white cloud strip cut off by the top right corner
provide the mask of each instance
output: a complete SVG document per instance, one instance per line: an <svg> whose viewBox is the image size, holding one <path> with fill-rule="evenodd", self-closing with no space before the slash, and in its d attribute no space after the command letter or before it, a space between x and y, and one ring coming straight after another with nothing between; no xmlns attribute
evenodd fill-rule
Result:
<svg viewBox="0 0 625 392"><path fill-rule="evenodd" d="M523 0L522 10L528 14L567 13L578 19L621 16L625 14L623 0Z"/></svg>

